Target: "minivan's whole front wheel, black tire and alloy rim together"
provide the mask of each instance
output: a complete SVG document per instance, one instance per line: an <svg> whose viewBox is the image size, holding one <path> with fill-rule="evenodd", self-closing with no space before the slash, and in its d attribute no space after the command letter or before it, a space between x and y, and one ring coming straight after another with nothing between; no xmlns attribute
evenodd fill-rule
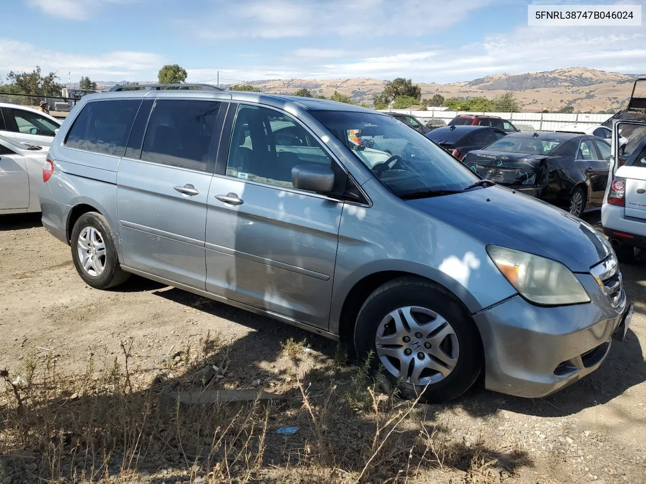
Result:
<svg viewBox="0 0 646 484"><path fill-rule="evenodd" d="M408 321L399 324L399 331L396 314ZM354 345L360 360L371 356L373 376L384 390L396 388L410 399L421 394L423 403L466 392L484 359L475 323L461 303L444 288L413 277L394 279L366 299L357 316Z"/></svg>

